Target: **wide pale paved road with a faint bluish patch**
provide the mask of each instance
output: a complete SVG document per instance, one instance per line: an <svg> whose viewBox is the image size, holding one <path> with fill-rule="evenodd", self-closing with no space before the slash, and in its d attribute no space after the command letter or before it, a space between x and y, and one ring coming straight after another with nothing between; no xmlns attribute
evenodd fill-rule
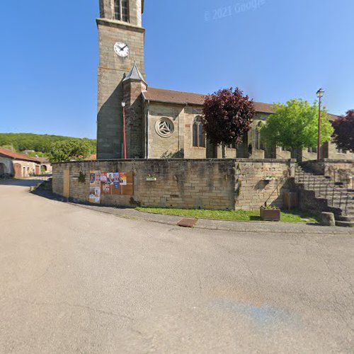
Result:
<svg viewBox="0 0 354 354"><path fill-rule="evenodd" d="M0 184L0 353L353 353L353 236L180 229Z"/></svg>

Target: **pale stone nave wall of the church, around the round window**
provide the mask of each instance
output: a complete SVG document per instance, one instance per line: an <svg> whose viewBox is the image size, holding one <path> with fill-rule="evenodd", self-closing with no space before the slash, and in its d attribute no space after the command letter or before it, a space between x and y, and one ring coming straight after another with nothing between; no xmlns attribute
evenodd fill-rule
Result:
<svg viewBox="0 0 354 354"><path fill-rule="evenodd" d="M193 122L202 115L202 107L198 105L181 105L170 103L149 104L149 158L160 159L166 157L185 157L185 159L205 159L206 157L222 158L222 147L217 147L215 156L210 156L203 147L193 147ZM265 122L269 115L257 113L251 123L251 129L247 132L246 141L238 144L237 149L226 147L227 159L291 159L292 153L281 147L257 149L256 131ZM161 118L173 120L175 130L168 138L161 138L155 130L156 121ZM354 160L354 154L350 152L340 153L333 143L328 144L328 149L323 147L323 154L329 159ZM327 152L328 150L328 152ZM297 156L295 154L295 156ZM304 161L316 159L316 152L302 150Z"/></svg>

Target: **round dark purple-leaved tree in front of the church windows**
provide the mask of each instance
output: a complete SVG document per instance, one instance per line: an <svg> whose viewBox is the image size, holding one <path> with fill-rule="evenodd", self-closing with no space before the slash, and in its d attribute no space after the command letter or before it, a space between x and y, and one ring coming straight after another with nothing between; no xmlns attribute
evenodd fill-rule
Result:
<svg viewBox="0 0 354 354"><path fill-rule="evenodd" d="M222 89L206 96L202 123L207 138L212 144L223 147L241 142L255 113L249 96L244 96L238 88Z"/></svg>

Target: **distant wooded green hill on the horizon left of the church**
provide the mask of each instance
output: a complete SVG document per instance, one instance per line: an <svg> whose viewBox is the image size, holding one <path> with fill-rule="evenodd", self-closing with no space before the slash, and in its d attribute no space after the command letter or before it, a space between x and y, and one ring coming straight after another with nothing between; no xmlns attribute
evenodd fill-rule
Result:
<svg viewBox="0 0 354 354"><path fill-rule="evenodd" d="M0 133L0 147L12 147L16 152L33 150L42 155L46 155L50 152L50 147L53 143L63 140L86 140L92 147L91 154L96 154L96 140L94 139L32 133Z"/></svg>

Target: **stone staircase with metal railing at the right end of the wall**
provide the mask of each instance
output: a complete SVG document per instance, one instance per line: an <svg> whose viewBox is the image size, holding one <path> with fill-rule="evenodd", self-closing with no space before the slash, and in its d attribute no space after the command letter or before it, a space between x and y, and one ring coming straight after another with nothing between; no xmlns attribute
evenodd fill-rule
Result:
<svg viewBox="0 0 354 354"><path fill-rule="evenodd" d="M331 177L305 171L301 166L297 166L295 183L305 199L312 199L309 205L313 205L314 212L333 212L337 226L354 227L354 190L335 183Z"/></svg>

